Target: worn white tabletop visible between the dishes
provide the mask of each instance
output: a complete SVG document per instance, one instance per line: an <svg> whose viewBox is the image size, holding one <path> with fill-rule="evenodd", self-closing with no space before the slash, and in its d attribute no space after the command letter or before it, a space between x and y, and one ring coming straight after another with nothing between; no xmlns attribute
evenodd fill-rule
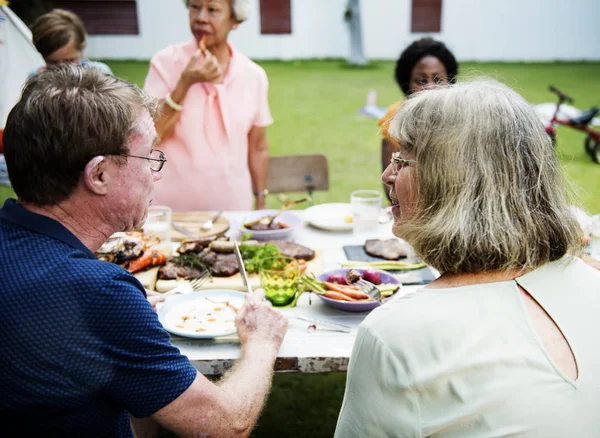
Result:
<svg viewBox="0 0 600 438"><path fill-rule="evenodd" d="M227 212L230 221L227 234L239 238L239 225L248 212ZM294 213L303 217L302 210ZM375 238L392 237L391 223L379 225ZM289 240L318 250L322 257L323 271L336 269L347 260L344 245L363 244L354 239L350 231L325 231L313 228L303 222ZM405 285L394 298L418 290L422 286ZM310 301L310 303L309 303ZM368 312L351 313L327 306L313 293L304 293L296 307L282 309L288 316L289 326L275 363L275 372L327 373L347 371L350 353L356 338L358 326ZM351 332L332 331L317 325L309 330L310 323L299 320L294 315L327 320L351 327ZM204 375L219 376L231 368L240 357L240 344L236 335L214 339L191 339L171 336L171 342L186 355L192 364Z"/></svg>

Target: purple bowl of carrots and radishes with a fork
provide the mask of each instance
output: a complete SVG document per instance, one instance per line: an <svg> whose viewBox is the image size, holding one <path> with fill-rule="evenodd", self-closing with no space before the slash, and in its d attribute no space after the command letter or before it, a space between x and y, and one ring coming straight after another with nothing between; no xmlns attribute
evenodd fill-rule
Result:
<svg viewBox="0 0 600 438"><path fill-rule="evenodd" d="M378 269L353 269L358 271L365 280L371 281L374 284L379 280L379 284L376 284L376 286L381 289L384 297L388 296L389 298L400 289L400 281L385 271ZM369 299L368 295L361 292L358 287L347 284L345 277L349 270L350 268L334 269L317 276L325 290L324 293L317 294L319 298L328 306L346 312L368 312L378 307L380 304L377 301Z"/></svg>

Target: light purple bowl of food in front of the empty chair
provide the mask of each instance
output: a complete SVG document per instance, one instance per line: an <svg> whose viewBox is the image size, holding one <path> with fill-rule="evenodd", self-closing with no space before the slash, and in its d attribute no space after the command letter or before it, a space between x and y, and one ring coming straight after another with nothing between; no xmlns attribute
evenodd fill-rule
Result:
<svg viewBox="0 0 600 438"><path fill-rule="evenodd" d="M289 237L301 224L300 216L291 211L256 210L244 218L241 229L253 239L274 240Z"/></svg>

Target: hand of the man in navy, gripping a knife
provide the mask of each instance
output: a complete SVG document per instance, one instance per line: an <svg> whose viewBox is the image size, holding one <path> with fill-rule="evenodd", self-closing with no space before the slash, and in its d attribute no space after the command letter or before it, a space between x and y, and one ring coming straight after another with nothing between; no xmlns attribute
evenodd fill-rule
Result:
<svg viewBox="0 0 600 438"><path fill-rule="evenodd" d="M271 344L276 351L283 342L288 320L265 300L262 289L256 289L246 297L246 302L235 318L235 325L242 345L259 341Z"/></svg>

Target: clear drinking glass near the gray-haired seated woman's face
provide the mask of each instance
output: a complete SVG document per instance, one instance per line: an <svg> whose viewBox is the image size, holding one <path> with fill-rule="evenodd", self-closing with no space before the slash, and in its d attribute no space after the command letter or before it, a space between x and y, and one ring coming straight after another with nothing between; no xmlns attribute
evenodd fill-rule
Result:
<svg viewBox="0 0 600 438"><path fill-rule="evenodd" d="M377 237L381 200L381 193L377 190L357 190L350 194L352 231L357 240Z"/></svg>

